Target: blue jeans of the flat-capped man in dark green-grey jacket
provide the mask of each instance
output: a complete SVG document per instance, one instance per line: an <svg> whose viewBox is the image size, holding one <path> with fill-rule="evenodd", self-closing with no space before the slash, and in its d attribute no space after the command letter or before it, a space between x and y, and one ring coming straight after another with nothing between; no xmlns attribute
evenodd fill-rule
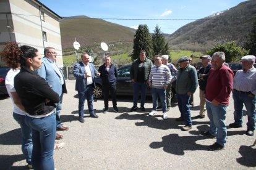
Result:
<svg viewBox="0 0 256 170"><path fill-rule="evenodd" d="M186 126L192 126L191 113L189 108L190 95L177 94L177 102L179 111L181 112L181 118L185 120Z"/></svg>

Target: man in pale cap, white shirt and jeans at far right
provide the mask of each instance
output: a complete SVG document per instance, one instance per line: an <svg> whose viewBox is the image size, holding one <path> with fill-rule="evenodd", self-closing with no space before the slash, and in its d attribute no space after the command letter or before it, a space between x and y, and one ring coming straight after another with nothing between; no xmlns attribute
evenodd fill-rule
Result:
<svg viewBox="0 0 256 170"><path fill-rule="evenodd" d="M233 79L234 123L229 124L229 127L242 127L242 108L245 105L248 116L247 136L254 136L256 121L256 68L254 68L254 62L254 55L242 57L242 70L237 71Z"/></svg>

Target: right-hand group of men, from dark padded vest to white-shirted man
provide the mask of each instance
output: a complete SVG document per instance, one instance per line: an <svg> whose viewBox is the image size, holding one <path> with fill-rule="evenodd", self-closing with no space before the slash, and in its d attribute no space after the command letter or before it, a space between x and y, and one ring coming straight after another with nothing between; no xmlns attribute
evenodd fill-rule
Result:
<svg viewBox="0 0 256 170"><path fill-rule="evenodd" d="M229 105L229 97L233 91L234 99L234 123L229 124L231 128L242 127L243 105L247 109L248 123L246 134L254 136L255 130L255 103L256 103L256 68L254 68L255 56L246 55L242 57L242 70L233 71L225 64L224 52L215 52L212 57L203 55L202 67L196 70L190 65L189 57L181 57L177 62L179 68L166 63L166 55L154 57L155 64L146 58L146 52L141 51L139 59L132 63L130 77L134 82L134 105L130 111L137 110L139 89L141 91L140 110L145 111L145 95L147 85L151 87L153 109L149 115L156 113L157 100L161 100L163 119L167 119L166 111L169 111L170 100L168 99L168 87L175 82L177 102L181 116L176 121L184 121L182 131L192 129L190 113L190 97L194 94L199 84L200 111L197 118L205 118L205 111L210 119L208 131L201 134L216 138L209 150L223 150L226 144L226 111ZM168 60L168 55L167 55ZM167 65L168 67L164 66ZM177 70L177 71L176 71ZM168 101L166 103L166 101Z"/></svg>

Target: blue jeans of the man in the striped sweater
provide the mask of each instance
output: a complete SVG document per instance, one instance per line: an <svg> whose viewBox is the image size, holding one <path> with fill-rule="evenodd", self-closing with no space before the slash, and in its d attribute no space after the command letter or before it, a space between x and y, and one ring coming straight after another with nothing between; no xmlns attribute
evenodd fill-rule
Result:
<svg viewBox="0 0 256 170"><path fill-rule="evenodd" d="M162 110L163 113L166 112L166 90L165 89L156 89L154 87L151 88L151 94L152 94L152 102L153 102L153 110L156 110L157 108L157 100L158 96L160 97L161 104L162 104Z"/></svg>

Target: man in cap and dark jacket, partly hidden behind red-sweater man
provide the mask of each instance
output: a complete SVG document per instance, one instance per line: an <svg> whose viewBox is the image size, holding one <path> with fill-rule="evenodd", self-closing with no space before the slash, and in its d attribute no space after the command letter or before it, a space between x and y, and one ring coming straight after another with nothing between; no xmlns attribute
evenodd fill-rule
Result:
<svg viewBox="0 0 256 170"><path fill-rule="evenodd" d="M200 112L198 118L205 118L205 87L207 85L208 73L211 70L211 57L210 55L203 55L200 59L202 60L203 66L197 72L200 90Z"/></svg>

